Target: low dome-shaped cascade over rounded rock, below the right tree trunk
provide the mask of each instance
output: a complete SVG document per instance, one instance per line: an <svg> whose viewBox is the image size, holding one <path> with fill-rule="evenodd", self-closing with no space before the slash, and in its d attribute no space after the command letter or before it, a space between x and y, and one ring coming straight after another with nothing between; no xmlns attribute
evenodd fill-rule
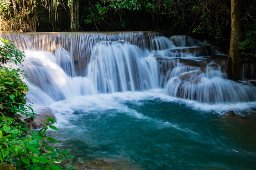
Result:
<svg viewBox="0 0 256 170"><path fill-rule="evenodd" d="M255 91L251 84L227 79L215 63L208 64L205 72L198 68L174 75L166 84L169 95L203 103L252 102L256 100Z"/></svg>

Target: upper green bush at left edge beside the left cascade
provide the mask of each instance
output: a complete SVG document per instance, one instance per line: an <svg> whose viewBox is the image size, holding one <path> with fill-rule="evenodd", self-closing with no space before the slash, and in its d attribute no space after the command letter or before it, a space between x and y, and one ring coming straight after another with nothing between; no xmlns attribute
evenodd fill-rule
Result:
<svg viewBox="0 0 256 170"><path fill-rule="evenodd" d="M0 113L14 117L20 104L26 103L25 92L28 87L22 81L22 76L26 74L19 68L8 68L2 64L14 62L22 65L25 55L16 49L11 41L0 40L4 43L0 46Z"/></svg>

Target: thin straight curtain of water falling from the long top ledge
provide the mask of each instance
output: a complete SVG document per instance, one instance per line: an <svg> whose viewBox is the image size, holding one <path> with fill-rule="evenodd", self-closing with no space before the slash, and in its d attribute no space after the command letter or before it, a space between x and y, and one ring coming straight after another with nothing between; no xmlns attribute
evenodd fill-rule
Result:
<svg viewBox="0 0 256 170"><path fill-rule="evenodd" d="M76 75L85 76L85 70L90 61L91 52L98 42L125 40L130 44L139 46L140 49L148 49L149 42L159 33L19 33L1 32L0 36L14 42L22 51L49 51L54 53L58 48L65 49L70 56Z"/></svg>

